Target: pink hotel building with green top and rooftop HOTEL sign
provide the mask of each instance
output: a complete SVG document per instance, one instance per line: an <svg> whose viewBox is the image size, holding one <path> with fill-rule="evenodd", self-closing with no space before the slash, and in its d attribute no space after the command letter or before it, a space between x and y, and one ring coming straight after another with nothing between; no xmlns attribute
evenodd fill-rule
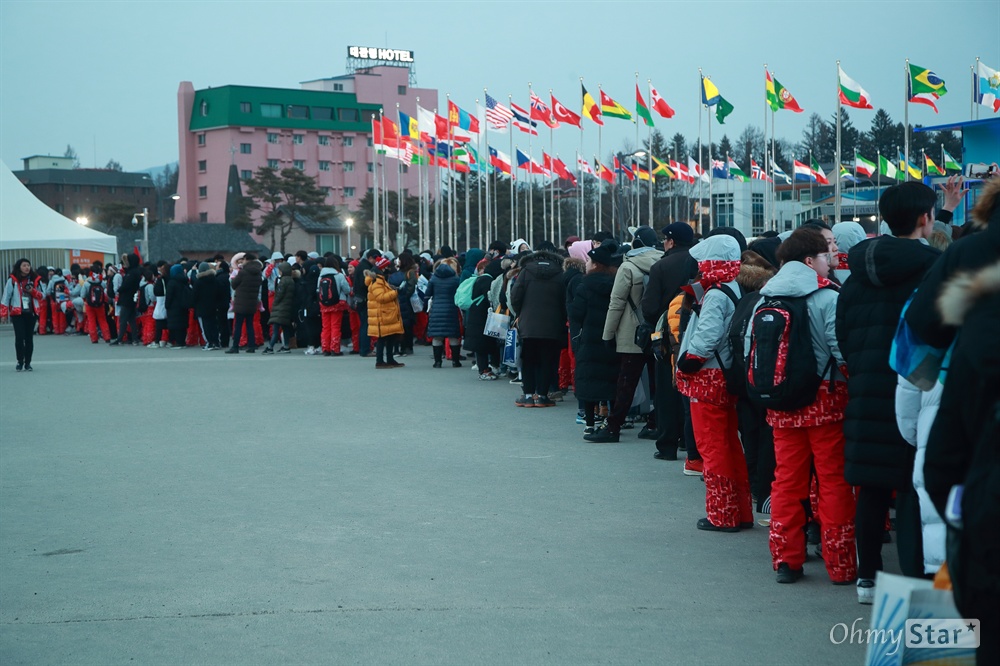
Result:
<svg viewBox="0 0 1000 666"><path fill-rule="evenodd" d="M300 89L222 86L177 91L179 179L177 222L226 221L230 165L240 180L259 167L295 167L316 177L341 219L372 189L371 118L384 109L398 122L396 103L416 116L438 107L437 90L411 88L410 70L373 66L353 74L305 81ZM392 178L395 181L395 178ZM388 185L388 183L387 183ZM417 191L416 171L403 175L403 191ZM391 184L395 188L395 182ZM316 238L317 251L341 246L343 223ZM312 248L308 248L312 249Z"/></svg>

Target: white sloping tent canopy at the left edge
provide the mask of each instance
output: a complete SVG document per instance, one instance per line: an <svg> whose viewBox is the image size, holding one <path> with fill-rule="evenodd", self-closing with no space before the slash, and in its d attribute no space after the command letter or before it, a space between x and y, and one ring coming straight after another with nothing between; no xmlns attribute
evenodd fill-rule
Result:
<svg viewBox="0 0 1000 666"><path fill-rule="evenodd" d="M0 162L0 251L84 250L117 254L117 239L55 212Z"/></svg>

